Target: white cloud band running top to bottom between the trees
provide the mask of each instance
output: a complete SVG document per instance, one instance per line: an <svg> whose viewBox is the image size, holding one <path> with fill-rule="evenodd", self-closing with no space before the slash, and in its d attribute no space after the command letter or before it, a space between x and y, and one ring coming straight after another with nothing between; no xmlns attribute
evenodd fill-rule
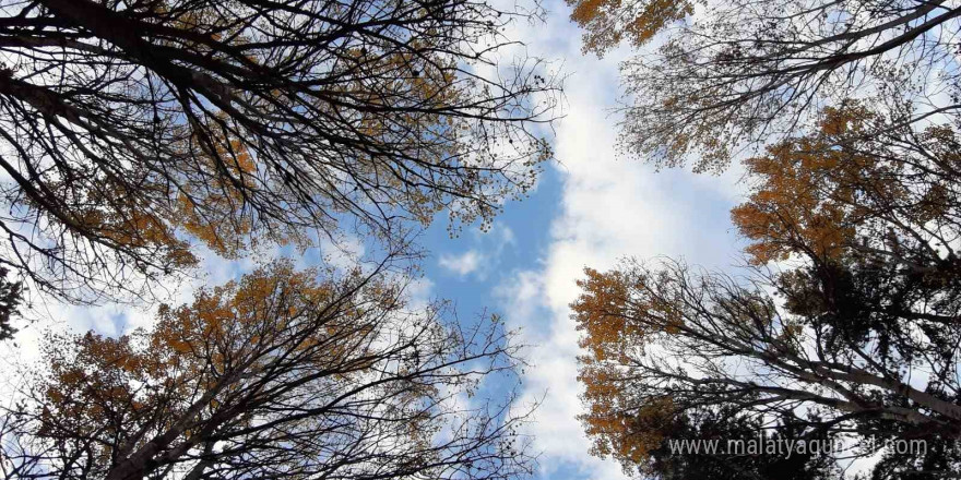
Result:
<svg viewBox="0 0 961 480"><path fill-rule="evenodd" d="M522 403L543 397L531 433L543 453L544 478L617 479L612 459L590 455L591 441L577 417L583 412L577 381L579 332L569 304L585 266L606 269L622 256L681 256L724 267L737 262L728 209L739 197L737 171L721 177L655 172L616 151L618 64L629 52L604 59L580 55L580 34L560 1L529 48L568 59L566 118L554 142L562 181L553 212L549 245L539 266L514 273L495 289L508 325L533 346ZM618 158L618 157L621 158Z"/></svg>

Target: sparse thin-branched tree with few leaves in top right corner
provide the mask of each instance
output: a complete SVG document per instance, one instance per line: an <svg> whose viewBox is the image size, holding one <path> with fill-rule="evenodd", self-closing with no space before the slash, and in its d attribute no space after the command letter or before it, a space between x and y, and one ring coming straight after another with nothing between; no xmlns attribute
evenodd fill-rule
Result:
<svg viewBox="0 0 961 480"><path fill-rule="evenodd" d="M923 130L957 121L961 8L946 1L570 0L585 50L626 37L621 141L661 167L720 170L861 97ZM660 35L660 36L659 36ZM902 111L904 110L904 111ZM773 140L773 142L772 142Z"/></svg>

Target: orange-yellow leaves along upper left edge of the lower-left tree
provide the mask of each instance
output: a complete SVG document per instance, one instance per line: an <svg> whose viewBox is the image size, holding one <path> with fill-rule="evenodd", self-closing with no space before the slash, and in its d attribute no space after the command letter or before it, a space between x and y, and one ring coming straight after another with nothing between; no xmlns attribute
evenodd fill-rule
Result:
<svg viewBox="0 0 961 480"><path fill-rule="evenodd" d="M103 429L123 437L140 421L170 419L153 424L168 428L165 422L180 418L241 364L247 372L257 371L286 351L309 355L324 365L365 355L355 339L370 329L361 312L339 311L331 281L319 281L317 271L295 272L289 262L277 262L240 281L202 289L192 304L162 305L151 331L119 338L94 333L52 338L47 346L50 376L41 387L43 430L57 435L58 429ZM311 323L318 319L325 319L323 327ZM235 387L227 385L224 392ZM222 403L214 397L207 408L214 411ZM103 448L97 455L108 458Z"/></svg>

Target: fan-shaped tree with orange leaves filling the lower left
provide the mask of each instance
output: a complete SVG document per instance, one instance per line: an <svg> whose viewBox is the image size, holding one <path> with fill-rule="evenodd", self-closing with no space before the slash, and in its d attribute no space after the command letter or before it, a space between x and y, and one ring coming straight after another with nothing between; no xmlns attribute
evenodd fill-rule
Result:
<svg viewBox="0 0 961 480"><path fill-rule="evenodd" d="M413 310L382 273L277 263L164 307L150 331L56 336L3 417L5 478L484 478L532 458L502 325ZM506 375L506 376L505 376Z"/></svg>

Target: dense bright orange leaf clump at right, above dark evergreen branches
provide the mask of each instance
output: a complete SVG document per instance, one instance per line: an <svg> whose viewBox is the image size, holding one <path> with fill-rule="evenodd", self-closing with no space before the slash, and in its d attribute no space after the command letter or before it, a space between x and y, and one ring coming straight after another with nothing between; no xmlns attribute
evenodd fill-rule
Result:
<svg viewBox="0 0 961 480"><path fill-rule="evenodd" d="M731 215L752 241L746 251L754 263L783 261L792 253L837 259L869 215L864 192L889 199L905 194L886 165L845 140L857 139L874 119L857 103L828 108L819 132L784 141L746 161L748 173L760 182Z"/></svg>

